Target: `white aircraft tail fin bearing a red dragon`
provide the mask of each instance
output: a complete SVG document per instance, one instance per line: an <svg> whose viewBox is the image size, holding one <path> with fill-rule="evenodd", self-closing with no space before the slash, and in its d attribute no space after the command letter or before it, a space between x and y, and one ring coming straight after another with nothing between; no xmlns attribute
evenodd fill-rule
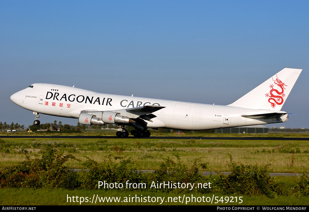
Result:
<svg viewBox="0 0 309 212"><path fill-rule="evenodd" d="M228 106L281 110L302 69L284 68Z"/></svg>

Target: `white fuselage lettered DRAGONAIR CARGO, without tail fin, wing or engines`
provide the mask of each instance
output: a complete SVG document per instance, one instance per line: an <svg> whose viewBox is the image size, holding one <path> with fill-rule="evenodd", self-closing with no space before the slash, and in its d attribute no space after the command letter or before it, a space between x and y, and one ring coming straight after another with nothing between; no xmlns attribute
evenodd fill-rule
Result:
<svg viewBox="0 0 309 212"><path fill-rule="evenodd" d="M56 84L32 84L13 94L11 100L30 111L69 118L78 118L84 110L112 111L145 105L164 106L165 108L153 112L157 116L151 119L153 122L146 121L148 128L205 130L287 120L287 114L280 120L243 117L269 113L269 110L103 94Z"/></svg>

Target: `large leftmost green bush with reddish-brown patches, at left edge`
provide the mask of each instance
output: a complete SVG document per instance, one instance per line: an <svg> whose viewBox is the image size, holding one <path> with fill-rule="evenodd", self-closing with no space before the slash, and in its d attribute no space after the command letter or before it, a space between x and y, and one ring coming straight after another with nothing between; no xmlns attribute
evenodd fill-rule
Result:
<svg viewBox="0 0 309 212"><path fill-rule="evenodd" d="M72 155L58 154L48 147L42 158L36 157L20 162L13 168L3 169L0 175L1 187L32 188L77 188L76 173L69 171L63 164L68 160L77 160Z"/></svg>

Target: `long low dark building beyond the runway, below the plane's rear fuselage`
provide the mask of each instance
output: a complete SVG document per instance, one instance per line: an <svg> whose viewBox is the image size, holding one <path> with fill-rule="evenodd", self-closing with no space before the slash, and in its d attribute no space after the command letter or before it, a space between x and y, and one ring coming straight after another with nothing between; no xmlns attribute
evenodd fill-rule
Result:
<svg viewBox="0 0 309 212"><path fill-rule="evenodd" d="M215 133L268 133L263 125L215 129Z"/></svg>

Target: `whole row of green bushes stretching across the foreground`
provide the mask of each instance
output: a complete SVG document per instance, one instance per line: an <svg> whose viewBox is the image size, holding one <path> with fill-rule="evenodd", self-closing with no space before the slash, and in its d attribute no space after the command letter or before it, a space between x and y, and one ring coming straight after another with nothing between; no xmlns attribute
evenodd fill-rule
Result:
<svg viewBox="0 0 309 212"><path fill-rule="evenodd" d="M72 148L74 149L74 148ZM198 163L201 158L193 161L192 167L187 167L176 154L176 161L167 157L154 173L142 174L138 166L129 158L109 155L103 162L98 163L87 157L83 163L83 171L75 173L64 166L68 160L77 160L72 155L63 155L53 149L53 145L47 145L41 151L42 156L36 156L20 162L12 168L0 167L0 188L4 187L32 187L32 188L66 188L66 189L98 189L99 181L110 183L145 183L148 191L171 193L214 193L244 194L248 196L265 195L273 198L275 194L289 196L309 196L309 175L307 173L299 177L295 186L285 182L275 182L269 177L269 166L243 165L233 161L229 155L229 167L231 174L220 174L220 178L202 177L199 167L206 168L208 163ZM193 189L167 187L152 187L157 183L194 183ZM197 183L204 185L211 182L211 188L196 188ZM294 187L295 186L295 187ZM291 189L294 188L294 189ZM100 188L102 189L102 187ZM115 189L115 188L113 188ZM118 190L133 190L134 188L118 188ZM142 188L145 189L145 188Z"/></svg>

